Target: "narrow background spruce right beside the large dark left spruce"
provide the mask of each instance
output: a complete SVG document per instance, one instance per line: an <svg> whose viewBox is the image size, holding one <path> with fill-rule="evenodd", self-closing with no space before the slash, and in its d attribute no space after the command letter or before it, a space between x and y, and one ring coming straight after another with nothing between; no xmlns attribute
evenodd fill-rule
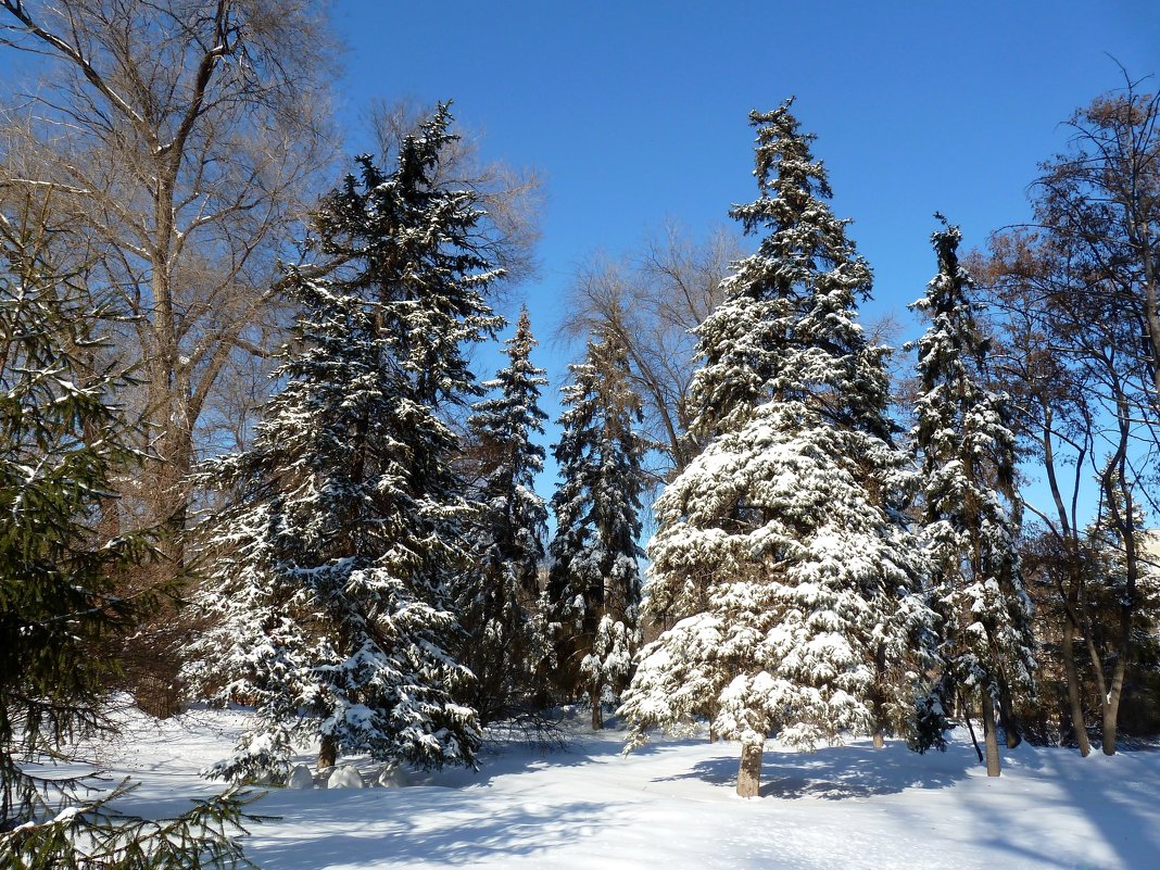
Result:
<svg viewBox="0 0 1160 870"><path fill-rule="evenodd" d="M535 607L544 560L548 507L535 491L544 469L544 448L532 441L548 419L539 408L544 370L531 364L528 310L505 342L509 364L484 386L498 393L474 405L470 427L483 478L483 513L477 532L476 570L464 574L457 596L465 629L461 657L476 682L472 706L487 724L525 706L531 693L536 650Z"/></svg>

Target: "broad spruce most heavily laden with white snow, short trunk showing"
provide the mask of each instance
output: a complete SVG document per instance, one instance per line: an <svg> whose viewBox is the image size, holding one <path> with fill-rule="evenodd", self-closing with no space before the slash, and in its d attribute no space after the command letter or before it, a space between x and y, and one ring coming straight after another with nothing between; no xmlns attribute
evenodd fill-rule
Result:
<svg viewBox="0 0 1160 870"><path fill-rule="evenodd" d="M741 744L742 797L760 791L771 731L805 748L906 731L933 622L896 503L907 457L885 413L887 350L856 322L870 269L790 102L751 121L760 196L732 215L763 238L697 329L706 447L657 501L648 546L647 611L675 624L621 708L630 745L708 716Z"/></svg>

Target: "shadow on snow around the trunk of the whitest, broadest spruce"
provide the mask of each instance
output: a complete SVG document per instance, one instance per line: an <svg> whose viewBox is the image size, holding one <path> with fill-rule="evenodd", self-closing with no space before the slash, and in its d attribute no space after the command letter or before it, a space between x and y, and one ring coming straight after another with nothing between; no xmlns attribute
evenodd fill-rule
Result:
<svg viewBox="0 0 1160 870"><path fill-rule="evenodd" d="M709 759L687 774L666 778L735 786L739 757ZM900 741L891 741L882 749L861 745L824 747L814 753L767 749L761 797L843 800L896 795L906 789L945 789L965 780L977 766L973 749L956 745L945 753L926 755L912 753Z"/></svg>

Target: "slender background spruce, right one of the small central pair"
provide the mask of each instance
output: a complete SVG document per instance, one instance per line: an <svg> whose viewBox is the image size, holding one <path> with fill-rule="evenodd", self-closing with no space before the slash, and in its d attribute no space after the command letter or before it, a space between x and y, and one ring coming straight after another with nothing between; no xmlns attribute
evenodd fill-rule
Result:
<svg viewBox="0 0 1160 870"><path fill-rule="evenodd" d="M568 370L552 449L560 486L552 496L557 529L544 611L554 679L565 694L588 697L600 730L603 703L624 690L640 644L637 542L647 445L625 349L614 336L589 341L585 361Z"/></svg>

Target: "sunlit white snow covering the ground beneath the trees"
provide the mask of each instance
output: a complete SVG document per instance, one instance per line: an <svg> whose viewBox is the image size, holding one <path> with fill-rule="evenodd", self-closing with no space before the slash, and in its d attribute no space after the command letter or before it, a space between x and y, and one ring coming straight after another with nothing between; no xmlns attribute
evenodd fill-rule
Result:
<svg viewBox="0 0 1160 870"><path fill-rule="evenodd" d="M271 789L247 855L262 870L723 868L741 870L1150 870L1160 868L1160 751L1080 759L1022 746L988 780L967 740L925 756L865 741L814 754L767 745L762 797L735 797L738 747L570 731L571 748L487 752L480 770L407 788ZM219 789L241 713L128 717L114 773L133 810L172 813ZM350 760L374 782L379 766Z"/></svg>

